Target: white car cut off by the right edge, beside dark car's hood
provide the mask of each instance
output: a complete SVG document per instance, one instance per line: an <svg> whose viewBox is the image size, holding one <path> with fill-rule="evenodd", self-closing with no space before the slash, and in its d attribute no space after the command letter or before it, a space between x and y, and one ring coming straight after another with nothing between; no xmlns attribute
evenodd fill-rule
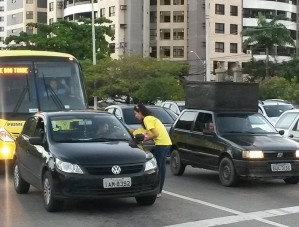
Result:
<svg viewBox="0 0 299 227"><path fill-rule="evenodd" d="M285 111L274 125L277 130L284 130L284 137L299 142L299 109Z"/></svg>

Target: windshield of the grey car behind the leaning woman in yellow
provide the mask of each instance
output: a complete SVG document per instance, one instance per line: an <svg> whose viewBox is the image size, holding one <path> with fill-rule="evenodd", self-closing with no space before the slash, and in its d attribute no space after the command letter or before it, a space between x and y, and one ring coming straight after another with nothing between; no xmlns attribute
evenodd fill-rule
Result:
<svg viewBox="0 0 299 227"><path fill-rule="evenodd" d="M175 118L177 117L171 117L170 113L166 111L164 108L150 108L148 107L154 116L158 118L163 124L173 124L175 121ZM140 121L135 117L134 110L132 108L124 108L123 109L124 114L124 121L127 125L137 125L140 124Z"/></svg>

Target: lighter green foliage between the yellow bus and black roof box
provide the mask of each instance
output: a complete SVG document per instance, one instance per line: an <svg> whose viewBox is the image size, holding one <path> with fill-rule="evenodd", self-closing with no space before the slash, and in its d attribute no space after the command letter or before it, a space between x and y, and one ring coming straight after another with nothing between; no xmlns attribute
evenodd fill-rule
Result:
<svg viewBox="0 0 299 227"><path fill-rule="evenodd" d="M89 96L101 98L127 97L144 103L157 100L183 99L180 81L189 70L183 62L159 61L138 55L124 56L119 60L103 59L97 65L82 63L89 84ZM93 83L96 81L96 89Z"/></svg>

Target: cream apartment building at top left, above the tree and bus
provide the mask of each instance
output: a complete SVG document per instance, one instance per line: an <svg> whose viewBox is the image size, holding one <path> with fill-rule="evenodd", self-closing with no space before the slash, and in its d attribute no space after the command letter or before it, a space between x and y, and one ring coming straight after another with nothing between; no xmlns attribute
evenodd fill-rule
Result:
<svg viewBox="0 0 299 227"><path fill-rule="evenodd" d="M45 0L7 0L5 9L6 37L18 35L21 31L36 33L29 29L29 22L47 23L47 2Z"/></svg>

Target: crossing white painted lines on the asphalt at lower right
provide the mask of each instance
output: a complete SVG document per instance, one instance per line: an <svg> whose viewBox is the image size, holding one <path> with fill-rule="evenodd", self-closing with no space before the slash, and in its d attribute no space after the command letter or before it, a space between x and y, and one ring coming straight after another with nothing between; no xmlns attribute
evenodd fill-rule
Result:
<svg viewBox="0 0 299 227"><path fill-rule="evenodd" d="M251 212L251 213L244 213L244 212L233 210L233 209L230 209L227 207L208 203L208 202L205 202L202 200L193 199L190 197L172 193L169 191L163 191L163 193L177 197L177 198L181 198L184 200L188 200L191 202L195 202L198 204L202 204L205 206L209 206L212 208L216 208L216 209L219 209L222 211L226 211L226 212L235 214L235 215L226 216L226 217L212 218L212 219L200 220L200 221L195 221L195 222L187 222L187 223L182 223L182 224L177 224L177 225L170 225L167 227L210 227L210 226L219 226L219 225L232 224L232 223L238 223L238 222L250 221L250 220L260 221L260 222L267 223L269 225L273 225L273 226L277 226L277 227L288 227L287 225L283 225L283 224L279 224L279 223L272 222L269 220L265 220L264 218L271 218L271 217L276 217L276 216L299 213L299 206L265 210L265 211L257 211L257 212Z"/></svg>

